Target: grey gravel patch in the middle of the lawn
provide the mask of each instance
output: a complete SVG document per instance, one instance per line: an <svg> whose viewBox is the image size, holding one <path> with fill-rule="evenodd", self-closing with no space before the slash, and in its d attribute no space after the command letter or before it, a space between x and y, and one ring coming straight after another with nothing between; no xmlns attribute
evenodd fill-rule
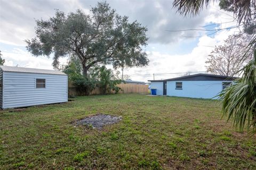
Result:
<svg viewBox="0 0 256 170"><path fill-rule="evenodd" d="M102 129L105 125L117 123L122 120L122 116L111 116L99 114L95 116L85 117L82 120L76 121L77 125L92 125L93 128Z"/></svg>

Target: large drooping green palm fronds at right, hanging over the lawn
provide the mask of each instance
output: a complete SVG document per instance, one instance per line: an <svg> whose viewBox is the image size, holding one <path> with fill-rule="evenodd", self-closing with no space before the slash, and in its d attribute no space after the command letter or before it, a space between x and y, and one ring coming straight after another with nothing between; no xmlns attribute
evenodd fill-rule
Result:
<svg viewBox="0 0 256 170"><path fill-rule="evenodd" d="M251 44L253 45L253 44ZM243 131L247 122L249 134L256 133L256 49L254 58L243 69L244 75L219 95L222 117L234 118L234 126Z"/></svg>

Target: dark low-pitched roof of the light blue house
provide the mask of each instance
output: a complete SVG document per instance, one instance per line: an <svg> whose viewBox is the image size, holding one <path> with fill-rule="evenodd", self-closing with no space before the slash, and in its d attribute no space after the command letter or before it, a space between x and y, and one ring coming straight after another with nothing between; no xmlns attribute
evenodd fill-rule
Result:
<svg viewBox="0 0 256 170"><path fill-rule="evenodd" d="M228 77L224 75L213 75L213 74L192 74L186 75L178 78L171 78L165 80L148 80L151 82L162 82L162 81L233 81L237 79L236 77Z"/></svg>

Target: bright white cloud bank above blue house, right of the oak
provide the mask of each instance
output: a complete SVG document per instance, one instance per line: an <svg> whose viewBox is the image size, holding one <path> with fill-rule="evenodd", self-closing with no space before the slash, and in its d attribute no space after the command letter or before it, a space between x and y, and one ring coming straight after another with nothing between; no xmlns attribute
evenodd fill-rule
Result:
<svg viewBox="0 0 256 170"><path fill-rule="evenodd" d="M223 43L229 35L233 35L237 29L222 30L214 37L204 36L199 38L197 46L185 55L169 55L152 50L148 52L149 65L142 68L131 68L124 70L124 74L131 75L132 80L147 81L153 79L168 79L179 77L181 74L161 74L161 73L183 73L206 71L205 61L215 45ZM161 75L157 75L157 74ZM151 75L134 75L151 74Z"/></svg>

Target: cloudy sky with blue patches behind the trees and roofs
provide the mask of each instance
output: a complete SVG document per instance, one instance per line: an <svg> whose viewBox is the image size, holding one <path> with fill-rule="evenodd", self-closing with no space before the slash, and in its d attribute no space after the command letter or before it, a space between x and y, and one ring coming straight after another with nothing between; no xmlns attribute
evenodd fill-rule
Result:
<svg viewBox="0 0 256 170"><path fill-rule="evenodd" d="M52 58L35 57L26 50L25 39L35 36L35 20L47 20L55 9L65 13L82 9L90 14L91 7L98 1L7 1L0 0L0 50L5 65L53 69ZM132 80L147 81L179 77L185 72L205 72L205 61L214 46L223 44L239 31L233 13L221 11L218 3L195 16L181 16L172 7L172 1L107 1L120 15L129 16L129 21L137 20L147 27L149 65L124 69L124 74ZM173 31L201 29L200 31ZM207 31L222 29L220 31ZM60 59L66 64L67 58ZM108 66L111 68L111 66Z"/></svg>

